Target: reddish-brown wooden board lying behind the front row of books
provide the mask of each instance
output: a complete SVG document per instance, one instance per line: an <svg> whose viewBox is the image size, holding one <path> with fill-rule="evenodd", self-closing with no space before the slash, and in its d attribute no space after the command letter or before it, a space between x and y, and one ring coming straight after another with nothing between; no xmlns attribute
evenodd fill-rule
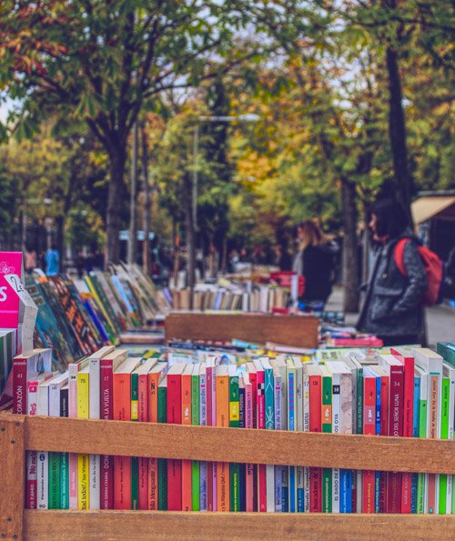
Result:
<svg viewBox="0 0 455 541"><path fill-rule="evenodd" d="M272 314L204 314L173 312L165 322L166 340L215 340L233 338L265 344L268 341L296 347L319 345L319 319L313 316Z"/></svg>

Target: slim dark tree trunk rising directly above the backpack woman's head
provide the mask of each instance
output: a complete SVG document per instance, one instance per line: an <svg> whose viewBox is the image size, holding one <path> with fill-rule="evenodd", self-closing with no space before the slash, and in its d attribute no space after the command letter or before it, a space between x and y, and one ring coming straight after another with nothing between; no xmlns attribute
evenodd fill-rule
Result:
<svg viewBox="0 0 455 541"><path fill-rule="evenodd" d="M412 178L406 145L406 124L403 110L403 95L399 75L399 58L394 49L387 49L387 72L389 76L389 139L393 156L393 170L397 200L403 205L410 220L410 194Z"/></svg>

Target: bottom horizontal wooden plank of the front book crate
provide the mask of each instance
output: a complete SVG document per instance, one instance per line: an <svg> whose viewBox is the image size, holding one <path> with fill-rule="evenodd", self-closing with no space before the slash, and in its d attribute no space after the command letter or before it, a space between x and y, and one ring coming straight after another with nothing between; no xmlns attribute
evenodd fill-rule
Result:
<svg viewBox="0 0 455 541"><path fill-rule="evenodd" d="M455 516L25 511L27 539L454 539Z"/></svg>

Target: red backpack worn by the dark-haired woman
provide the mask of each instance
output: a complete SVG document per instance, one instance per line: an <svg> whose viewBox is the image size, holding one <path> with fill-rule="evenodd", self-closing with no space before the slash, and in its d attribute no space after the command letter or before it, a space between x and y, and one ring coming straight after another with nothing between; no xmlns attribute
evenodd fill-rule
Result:
<svg viewBox="0 0 455 541"><path fill-rule="evenodd" d="M408 276L404 265L404 246L410 241L410 238L399 239L395 246L393 255L395 265L403 276ZM442 286L444 285L444 264L440 260L439 255L427 248L426 246L418 245L419 255L427 275L428 288L422 296L424 306L438 305L442 301Z"/></svg>

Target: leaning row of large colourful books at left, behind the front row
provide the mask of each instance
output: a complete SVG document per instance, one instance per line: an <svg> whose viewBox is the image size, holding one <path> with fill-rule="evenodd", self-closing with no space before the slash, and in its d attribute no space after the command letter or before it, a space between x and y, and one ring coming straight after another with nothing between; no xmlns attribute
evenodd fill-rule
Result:
<svg viewBox="0 0 455 541"><path fill-rule="evenodd" d="M35 345L52 347L60 370L101 346L118 344L122 333L145 326L164 306L136 265L91 273L77 286L67 275L26 276L25 288L38 308Z"/></svg>

